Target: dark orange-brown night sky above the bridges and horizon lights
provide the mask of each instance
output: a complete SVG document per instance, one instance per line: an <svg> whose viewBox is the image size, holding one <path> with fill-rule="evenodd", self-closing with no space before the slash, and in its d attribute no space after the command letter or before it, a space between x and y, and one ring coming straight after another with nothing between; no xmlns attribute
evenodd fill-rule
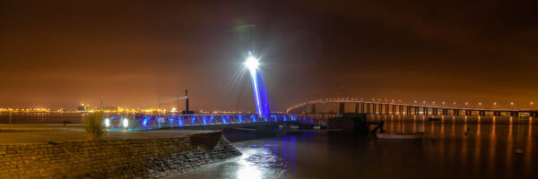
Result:
<svg viewBox="0 0 538 179"><path fill-rule="evenodd" d="M1 1L0 107L538 101L537 1ZM242 77L242 78L239 78ZM536 102L535 102L536 103ZM160 105L161 104L161 105Z"/></svg>

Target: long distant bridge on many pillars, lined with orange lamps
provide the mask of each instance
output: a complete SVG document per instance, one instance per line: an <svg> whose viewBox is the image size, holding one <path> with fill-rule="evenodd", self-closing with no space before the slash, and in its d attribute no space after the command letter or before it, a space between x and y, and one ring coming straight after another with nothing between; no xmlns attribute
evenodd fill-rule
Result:
<svg viewBox="0 0 538 179"><path fill-rule="evenodd" d="M338 104L337 113L318 113L317 106L321 104ZM415 105L404 103L384 103L376 101L364 101L358 98L327 98L308 101L290 107L286 114L294 115L342 115L346 113L346 105L354 107L353 113L365 113L367 115L479 115L479 116L520 116L528 114L532 117L538 117L538 110L512 110L512 109L487 109L471 107L439 107L428 105Z"/></svg>

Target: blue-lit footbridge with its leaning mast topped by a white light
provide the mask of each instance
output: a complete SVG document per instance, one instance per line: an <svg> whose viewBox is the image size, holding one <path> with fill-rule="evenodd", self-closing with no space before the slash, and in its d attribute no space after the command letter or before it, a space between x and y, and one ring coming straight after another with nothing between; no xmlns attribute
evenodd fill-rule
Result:
<svg viewBox="0 0 538 179"><path fill-rule="evenodd" d="M261 125L314 125L314 121L297 115L271 113L269 98L265 89L262 73L257 70L259 63L256 57L248 52L242 70L250 72L250 80L254 93L256 114L208 114L188 115L188 98L186 91L186 115L117 115L109 116L104 125L110 130L152 130L163 128L175 129L222 129L226 127L252 127Z"/></svg>

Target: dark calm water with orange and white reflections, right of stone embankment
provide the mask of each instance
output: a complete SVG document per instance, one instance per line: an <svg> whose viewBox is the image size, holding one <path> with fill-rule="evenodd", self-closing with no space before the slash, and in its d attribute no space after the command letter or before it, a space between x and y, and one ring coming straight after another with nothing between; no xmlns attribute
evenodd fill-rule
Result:
<svg viewBox="0 0 538 179"><path fill-rule="evenodd" d="M173 178L538 178L538 121L528 117L380 118L387 132L426 139L304 132L241 141L234 145L243 156Z"/></svg>

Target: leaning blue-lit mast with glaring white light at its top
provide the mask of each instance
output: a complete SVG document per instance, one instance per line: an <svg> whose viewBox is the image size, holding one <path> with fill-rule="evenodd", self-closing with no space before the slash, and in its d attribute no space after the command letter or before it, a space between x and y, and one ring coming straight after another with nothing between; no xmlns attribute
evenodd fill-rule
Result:
<svg viewBox="0 0 538 179"><path fill-rule="evenodd" d="M262 77L262 73L257 70L259 66L258 59L252 53L248 52L244 65L247 67L248 72L250 72L258 116L271 115L264 78Z"/></svg>

